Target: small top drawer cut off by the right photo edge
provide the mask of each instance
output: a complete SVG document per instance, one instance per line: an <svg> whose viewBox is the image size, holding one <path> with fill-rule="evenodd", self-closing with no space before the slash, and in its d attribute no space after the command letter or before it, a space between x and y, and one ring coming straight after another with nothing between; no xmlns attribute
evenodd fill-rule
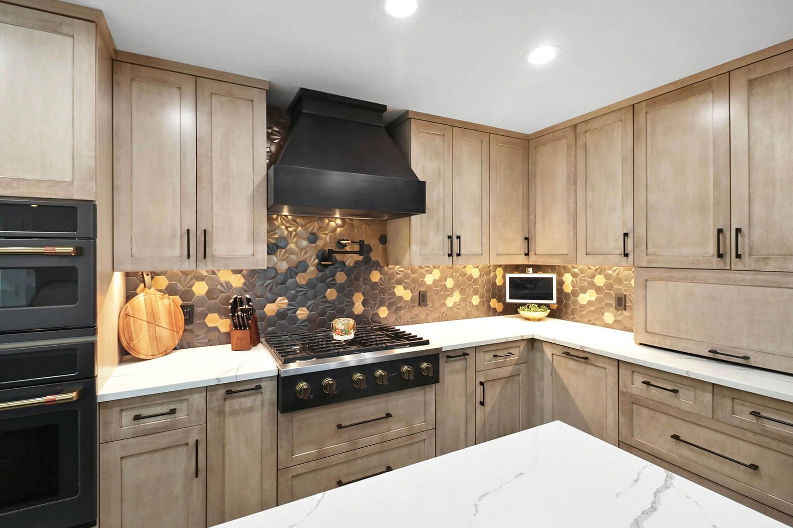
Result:
<svg viewBox="0 0 793 528"><path fill-rule="evenodd" d="M793 404L716 385L713 417L755 433L793 443Z"/></svg>

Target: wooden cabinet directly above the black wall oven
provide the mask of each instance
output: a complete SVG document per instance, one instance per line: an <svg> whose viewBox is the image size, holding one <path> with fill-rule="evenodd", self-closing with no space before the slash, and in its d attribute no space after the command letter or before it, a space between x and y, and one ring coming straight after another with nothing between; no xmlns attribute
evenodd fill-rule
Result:
<svg viewBox="0 0 793 528"><path fill-rule="evenodd" d="M96 29L0 3L0 194L96 197Z"/></svg>

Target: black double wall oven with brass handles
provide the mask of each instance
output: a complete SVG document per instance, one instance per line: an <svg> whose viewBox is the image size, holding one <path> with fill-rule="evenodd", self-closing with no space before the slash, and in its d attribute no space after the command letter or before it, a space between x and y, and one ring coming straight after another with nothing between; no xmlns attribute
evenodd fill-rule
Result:
<svg viewBox="0 0 793 528"><path fill-rule="evenodd" d="M95 206L0 199L0 526L94 526Z"/></svg>

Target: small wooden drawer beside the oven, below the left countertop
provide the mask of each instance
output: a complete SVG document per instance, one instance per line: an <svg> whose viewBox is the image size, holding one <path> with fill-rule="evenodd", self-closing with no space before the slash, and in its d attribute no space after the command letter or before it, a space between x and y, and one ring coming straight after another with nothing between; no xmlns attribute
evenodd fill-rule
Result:
<svg viewBox="0 0 793 528"><path fill-rule="evenodd" d="M206 389L151 394L99 404L99 442L206 423Z"/></svg>

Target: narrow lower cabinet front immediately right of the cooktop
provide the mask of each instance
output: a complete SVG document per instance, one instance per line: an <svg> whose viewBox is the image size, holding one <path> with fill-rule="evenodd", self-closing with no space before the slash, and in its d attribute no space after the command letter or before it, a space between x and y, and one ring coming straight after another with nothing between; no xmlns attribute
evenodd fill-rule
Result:
<svg viewBox="0 0 793 528"><path fill-rule="evenodd" d="M435 455L473 446L477 441L477 372L473 348L441 354L435 385Z"/></svg>

